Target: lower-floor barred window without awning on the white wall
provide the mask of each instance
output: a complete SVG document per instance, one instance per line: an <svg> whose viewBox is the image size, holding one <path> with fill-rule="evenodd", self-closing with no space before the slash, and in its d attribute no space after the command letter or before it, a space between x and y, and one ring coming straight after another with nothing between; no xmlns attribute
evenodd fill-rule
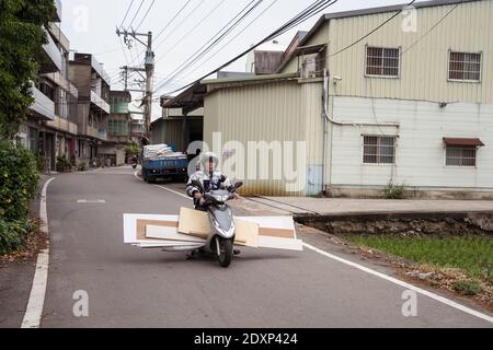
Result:
<svg viewBox="0 0 493 350"><path fill-rule="evenodd" d="M365 136L363 163L393 164L395 162L395 137Z"/></svg>

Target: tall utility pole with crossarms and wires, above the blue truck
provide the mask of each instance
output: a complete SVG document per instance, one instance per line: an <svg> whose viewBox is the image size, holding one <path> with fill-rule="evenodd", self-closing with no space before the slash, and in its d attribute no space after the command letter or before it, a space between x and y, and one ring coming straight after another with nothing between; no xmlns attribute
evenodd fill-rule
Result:
<svg viewBox="0 0 493 350"><path fill-rule="evenodd" d="M125 38L125 44L131 48L131 39L128 37L131 36L137 42L146 46L146 60L145 60L145 67L127 67L124 66L122 69L125 71L125 91L133 91L133 92L144 92L144 121L145 121L145 136L148 140L151 139L151 117L152 117L152 79L154 74L154 52L152 51L152 32L148 33L136 33L136 32L129 32L129 31L121 31L119 28L116 28L116 34L118 36L123 35ZM147 37L147 43L139 39L139 37ZM137 72L146 72L146 90L130 90L128 89L128 71L137 71Z"/></svg>

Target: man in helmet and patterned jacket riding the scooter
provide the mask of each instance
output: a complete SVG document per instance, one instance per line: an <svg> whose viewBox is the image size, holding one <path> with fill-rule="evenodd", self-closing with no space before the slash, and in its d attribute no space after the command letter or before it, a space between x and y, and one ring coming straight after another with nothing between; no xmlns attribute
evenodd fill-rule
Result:
<svg viewBox="0 0 493 350"><path fill-rule="evenodd" d="M231 180L223 175L221 172L217 171L219 164L219 158L213 152L207 152L202 156L202 171L194 173L186 185L186 194L194 199L194 207L199 211L207 211L206 201L204 195L196 185L200 184L205 192L227 189L228 191L234 192L234 198L238 199L240 195L236 192L234 186ZM239 255L240 250L233 249L234 255Z"/></svg>

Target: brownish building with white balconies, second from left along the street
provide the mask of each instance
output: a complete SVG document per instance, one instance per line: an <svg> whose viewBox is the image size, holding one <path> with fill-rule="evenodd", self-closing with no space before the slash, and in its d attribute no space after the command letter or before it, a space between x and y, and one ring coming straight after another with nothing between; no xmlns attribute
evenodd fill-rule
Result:
<svg viewBox="0 0 493 350"><path fill-rule="evenodd" d="M91 54L74 54L69 68L70 80L79 90L77 165L99 166L102 165L102 159L98 149L107 141L110 77Z"/></svg>

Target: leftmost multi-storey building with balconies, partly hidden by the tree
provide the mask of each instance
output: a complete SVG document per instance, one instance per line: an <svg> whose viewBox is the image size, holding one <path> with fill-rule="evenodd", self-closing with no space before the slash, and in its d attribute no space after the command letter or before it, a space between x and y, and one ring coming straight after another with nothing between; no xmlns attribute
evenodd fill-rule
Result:
<svg viewBox="0 0 493 350"><path fill-rule="evenodd" d="M56 170L57 158L74 161L78 90L70 82L70 43L61 32L61 3L45 28L47 43L39 55L39 73L33 82L35 97L28 120L20 128L19 142L45 161L45 170Z"/></svg>

